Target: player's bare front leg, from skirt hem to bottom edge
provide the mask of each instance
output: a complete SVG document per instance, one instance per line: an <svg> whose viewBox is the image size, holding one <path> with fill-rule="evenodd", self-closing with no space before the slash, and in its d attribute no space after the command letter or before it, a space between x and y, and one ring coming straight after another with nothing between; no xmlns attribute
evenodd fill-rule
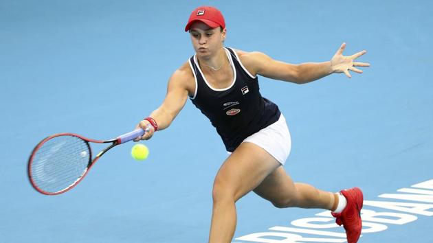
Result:
<svg viewBox="0 0 433 243"><path fill-rule="evenodd" d="M251 192L280 163L254 143L241 143L216 174L212 190L210 243L230 243L236 229L236 201Z"/></svg>

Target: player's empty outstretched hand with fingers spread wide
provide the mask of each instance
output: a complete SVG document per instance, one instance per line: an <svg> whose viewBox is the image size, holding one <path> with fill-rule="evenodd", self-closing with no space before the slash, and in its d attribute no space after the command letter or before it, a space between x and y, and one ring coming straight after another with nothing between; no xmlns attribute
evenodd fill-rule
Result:
<svg viewBox="0 0 433 243"><path fill-rule="evenodd" d="M354 71L355 73L362 73L362 70L359 70L356 67L370 67L370 63L354 62L356 58L366 54L366 50L359 51L357 54L353 54L352 56L343 56L345 48L346 43L343 43L331 59L331 68L334 73L344 73L348 78L352 78L349 70Z"/></svg>

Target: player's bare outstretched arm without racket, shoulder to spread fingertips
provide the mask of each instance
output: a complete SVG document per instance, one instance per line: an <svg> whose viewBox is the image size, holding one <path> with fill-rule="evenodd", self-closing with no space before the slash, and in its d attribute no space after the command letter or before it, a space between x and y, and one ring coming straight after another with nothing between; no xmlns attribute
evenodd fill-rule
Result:
<svg viewBox="0 0 433 243"><path fill-rule="evenodd" d="M345 73L348 78L351 78L349 70L362 73L362 70L356 67L370 66L368 63L355 62L356 58L366 54L367 51L359 51L352 56L343 56L345 48L346 43L343 43L328 62L307 62L300 65L280 62L260 52L245 53L241 51L239 56L243 65L252 75L258 74L275 80L305 84L328 76L331 73Z"/></svg>

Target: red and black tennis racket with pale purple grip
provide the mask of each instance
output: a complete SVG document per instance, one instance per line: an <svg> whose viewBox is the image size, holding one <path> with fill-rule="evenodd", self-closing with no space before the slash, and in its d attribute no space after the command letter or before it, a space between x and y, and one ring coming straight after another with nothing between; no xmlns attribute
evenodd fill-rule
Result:
<svg viewBox="0 0 433 243"><path fill-rule="evenodd" d="M118 146L131 141L144 132L133 130L111 140L87 139L74 133L51 135L34 148L28 161L28 176L36 191L45 195L57 195L74 188L85 178L90 168L102 155ZM90 143L111 143L92 159Z"/></svg>

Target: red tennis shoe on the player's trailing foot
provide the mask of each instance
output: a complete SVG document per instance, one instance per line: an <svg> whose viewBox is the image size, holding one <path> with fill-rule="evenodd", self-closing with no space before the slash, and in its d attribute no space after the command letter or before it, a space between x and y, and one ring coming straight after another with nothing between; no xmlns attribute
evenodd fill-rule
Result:
<svg viewBox="0 0 433 243"><path fill-rule="evenodd" d="M347 242L356 243L358 242L359 236L361 236L361 209L364 203L364 197L362 196L361 189L358 187L342 190L341 194L346 198L347 205L341 213L331 212L331 214L337 218L335 222L338 225L343 224L344 229L346 229Z"/></svg>

